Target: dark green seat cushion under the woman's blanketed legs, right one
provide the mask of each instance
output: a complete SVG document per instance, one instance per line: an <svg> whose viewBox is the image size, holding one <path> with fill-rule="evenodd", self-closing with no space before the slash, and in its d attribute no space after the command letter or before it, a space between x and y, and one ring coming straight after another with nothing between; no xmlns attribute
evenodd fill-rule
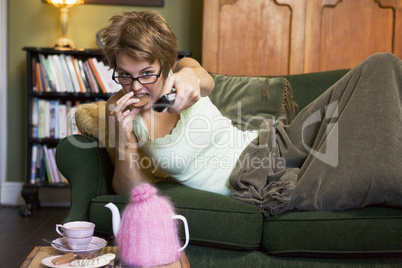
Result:
<svg viewBox="0 0 402 268"><path fill-rule="evenodd" d="M270 254L402 253L402 210L288 212L264 220L262 246Z"/></svg>

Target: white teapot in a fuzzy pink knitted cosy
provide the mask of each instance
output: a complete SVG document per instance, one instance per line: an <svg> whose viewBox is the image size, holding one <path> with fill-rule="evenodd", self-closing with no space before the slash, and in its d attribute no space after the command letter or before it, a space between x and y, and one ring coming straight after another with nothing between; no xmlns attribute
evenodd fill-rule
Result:
<svg viewBox="0 0 402 268"><path fill-rule="evenodd" d="M171 201L158 195L157 189L142 183L131 191L130 203L120 212L113 203L105 207L112 212L113 233L121 260L131 266L159 266L180 259L189 243L185 217L176 215ZM185 243L180 246L175 220L184 224Z"/></svg>

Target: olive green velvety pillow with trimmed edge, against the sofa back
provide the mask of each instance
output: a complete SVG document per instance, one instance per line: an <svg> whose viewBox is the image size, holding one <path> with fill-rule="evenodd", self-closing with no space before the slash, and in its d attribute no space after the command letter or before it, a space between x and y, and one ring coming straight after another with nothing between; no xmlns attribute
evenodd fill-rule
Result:
<svg viewBox="0 0 402 268"><path fill-rule="evenodd" d="M215 88L209 97L237 128L258 130L264 119L293 120L296 104L286 78L211 75Z"/></svg>

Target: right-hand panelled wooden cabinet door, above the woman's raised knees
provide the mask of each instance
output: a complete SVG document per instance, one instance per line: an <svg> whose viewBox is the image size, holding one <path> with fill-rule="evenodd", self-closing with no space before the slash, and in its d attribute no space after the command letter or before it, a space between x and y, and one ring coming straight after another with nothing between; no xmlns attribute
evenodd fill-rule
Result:
<svg viewBox="0 0 402 268"><path fill-rule="evenodd" d="M402 56L401 0L310 0L304 72L353 68L376 52Z"/></svg>

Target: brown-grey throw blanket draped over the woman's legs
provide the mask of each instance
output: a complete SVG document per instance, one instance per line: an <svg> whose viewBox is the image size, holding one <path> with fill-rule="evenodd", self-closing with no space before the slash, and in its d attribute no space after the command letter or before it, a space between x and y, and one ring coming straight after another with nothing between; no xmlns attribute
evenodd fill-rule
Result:
<svg viewBox="0 0 402 268"><path fill-rule="evenodd" d="M290 125L270 120L230 177L266 216L289 210L402 207L402 63L375 54Z"/></svg>

